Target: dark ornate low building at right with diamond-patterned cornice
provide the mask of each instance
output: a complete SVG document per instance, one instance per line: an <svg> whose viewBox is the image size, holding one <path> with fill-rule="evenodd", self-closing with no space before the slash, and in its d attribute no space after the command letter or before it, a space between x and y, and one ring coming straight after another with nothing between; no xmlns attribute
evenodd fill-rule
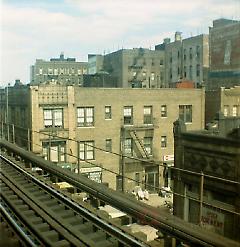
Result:
<svg viewBox="0 0 240 247"><path fill-rule="evenodd" d="M240 241L240 118L221 116L214 129L174 128L174 214ZM180 196L181 195L181 196Z"/></svg>

